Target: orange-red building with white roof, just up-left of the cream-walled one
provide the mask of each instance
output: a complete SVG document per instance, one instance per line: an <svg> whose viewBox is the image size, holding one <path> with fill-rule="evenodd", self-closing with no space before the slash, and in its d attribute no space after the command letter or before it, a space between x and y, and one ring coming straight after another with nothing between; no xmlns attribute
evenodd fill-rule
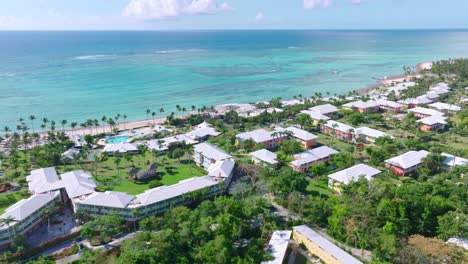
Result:
<svg viewBox="0 0 468 264"><path fill-rule="evenodd" d="M295 171L305 172L315 164L330 161L331 156L337 153L338 151L327 146L318 147L294 155L294 161L289 166Z"/></svg>

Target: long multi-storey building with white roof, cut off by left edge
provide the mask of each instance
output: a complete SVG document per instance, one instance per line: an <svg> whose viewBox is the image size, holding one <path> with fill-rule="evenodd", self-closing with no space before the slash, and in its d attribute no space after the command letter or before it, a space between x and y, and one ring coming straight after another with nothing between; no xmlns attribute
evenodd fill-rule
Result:
<svg viewBox="0 0 468 264"><path fill-rule="evenodd" d="M33 194L8 207L0 219L12 218L11 223L0 224L0 248L7 248L15 234L28 236L44 221L42 210L53 207L60 201L60 192Z"/></svg>

